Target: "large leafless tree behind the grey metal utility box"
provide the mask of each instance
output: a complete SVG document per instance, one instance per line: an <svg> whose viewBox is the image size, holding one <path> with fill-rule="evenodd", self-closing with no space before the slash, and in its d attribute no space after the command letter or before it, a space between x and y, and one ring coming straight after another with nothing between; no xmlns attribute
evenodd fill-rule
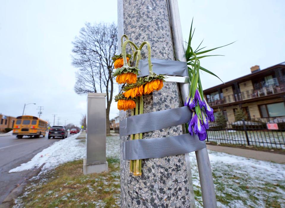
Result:
<svg viewBox="0 0 285 208"><path fill-rule="evenodd" d="M106 126L110 135L109 113L113 98L113 60L118 50L117 26L86 23L73 43L72 65L78 68L74 90L77 94L106 92Z"/></svg>

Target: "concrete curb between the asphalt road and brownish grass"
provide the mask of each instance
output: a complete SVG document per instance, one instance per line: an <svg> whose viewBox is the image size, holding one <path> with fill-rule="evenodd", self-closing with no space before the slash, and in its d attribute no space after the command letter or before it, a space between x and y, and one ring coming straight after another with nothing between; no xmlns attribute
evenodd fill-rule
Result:
<svg viewBox="0 0 285 208"><path fill-rule="evenodd" d="M43 163L39 168L34 170L34 173L27 179L25 179L24 182L22 182L19 186L17 186L14 190L12 190L8 196L2 201L2 204L0 204L0 208L9 208L14 203L14 199L20 196L23 193L23 190L25 189L26 185L28 184L28 180L34 176L37 176L39 172L41 172L42 167L45 165Z"/></svg>

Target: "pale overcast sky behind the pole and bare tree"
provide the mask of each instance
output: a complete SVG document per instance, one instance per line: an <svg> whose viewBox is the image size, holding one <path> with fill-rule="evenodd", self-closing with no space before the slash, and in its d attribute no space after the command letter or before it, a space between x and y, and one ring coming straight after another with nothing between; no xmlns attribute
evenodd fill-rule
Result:
<svg viewBox="0 0 285 208"><path fill-rule="evenodd" d="M285 61L285 1L202 1L178 0L184 39L188 39L194 17L193 46L213 48L237 41L212 54L201 65L226 82ZM74 90L75 71L71 65L74 37L85 22L117 23L117 1L0 1L0 113L37 115L53 124L79 125L86 113L86 95ZM219 79L202 74L204 89ZM116 103L110 118L118 115ZM57 118L56 118L57 124Z"/></svg>

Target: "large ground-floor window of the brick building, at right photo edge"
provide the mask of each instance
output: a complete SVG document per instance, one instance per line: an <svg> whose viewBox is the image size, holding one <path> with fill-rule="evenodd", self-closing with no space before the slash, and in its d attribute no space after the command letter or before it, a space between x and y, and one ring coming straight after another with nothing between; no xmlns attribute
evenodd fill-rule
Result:
<svg viewBox="0 0 285 208"><path fill-rule="evenodd" d="M285 116L284 102L260 105L259 110L262 118Z"/></svg>

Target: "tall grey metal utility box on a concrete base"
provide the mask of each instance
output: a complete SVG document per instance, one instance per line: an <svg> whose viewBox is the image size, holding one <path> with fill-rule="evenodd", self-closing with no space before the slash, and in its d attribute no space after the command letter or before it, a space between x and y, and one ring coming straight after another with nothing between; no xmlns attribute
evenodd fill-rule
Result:
<svg viewBox="0 0 285 208"><path fill-rule="evenodd" d="M86 158L83 173L108 171L106 161L106 93L88 93Z"/></svg>

